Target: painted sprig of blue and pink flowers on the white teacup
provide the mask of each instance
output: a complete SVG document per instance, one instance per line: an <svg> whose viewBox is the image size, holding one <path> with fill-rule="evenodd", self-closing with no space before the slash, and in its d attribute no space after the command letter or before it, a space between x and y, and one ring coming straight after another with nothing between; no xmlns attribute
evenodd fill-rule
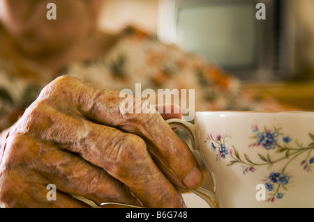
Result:
<svg viewBox="0 0 314 222"><path fill-rule="evenodd" d="M227 135L217 134L207 134L205 143L210 143L211 150L216 152L216 161L220 158L225 159L226 157L230 159L227 166L232 166L234 164L242 164L244 166L244 175L246 173L254 173L257 171L258 167L267 166L268 169L271 169L272 166L280 163L283 163L283 167L279 171L271 172L269 175L266 175L264 179L261 179L264 182L265 188L268 190L269 198L266 201L274 202L276 199L281 199L284 197L284 191L289 189L290 179L293 175L290 175L288 166L296 161L297 157L302 157L300 166L306 172L313 172L314 167L314 134L309 133L311 137L311 143L304 146L297 141L297 139L292 139L292 137L283 134L281 128L267 129L264 127L262 130L257 127L257 125L252 126L253 136L250 138L253 142L248 145L248 148L262 148L269 150L271 152L274 150L274 154L270 155L269 153L257 154L258 161L252 161L251 157L248 154L242 154L240 156L239 151L231 145L231 148L228 148L225 145L225 139Z"/></svg>

